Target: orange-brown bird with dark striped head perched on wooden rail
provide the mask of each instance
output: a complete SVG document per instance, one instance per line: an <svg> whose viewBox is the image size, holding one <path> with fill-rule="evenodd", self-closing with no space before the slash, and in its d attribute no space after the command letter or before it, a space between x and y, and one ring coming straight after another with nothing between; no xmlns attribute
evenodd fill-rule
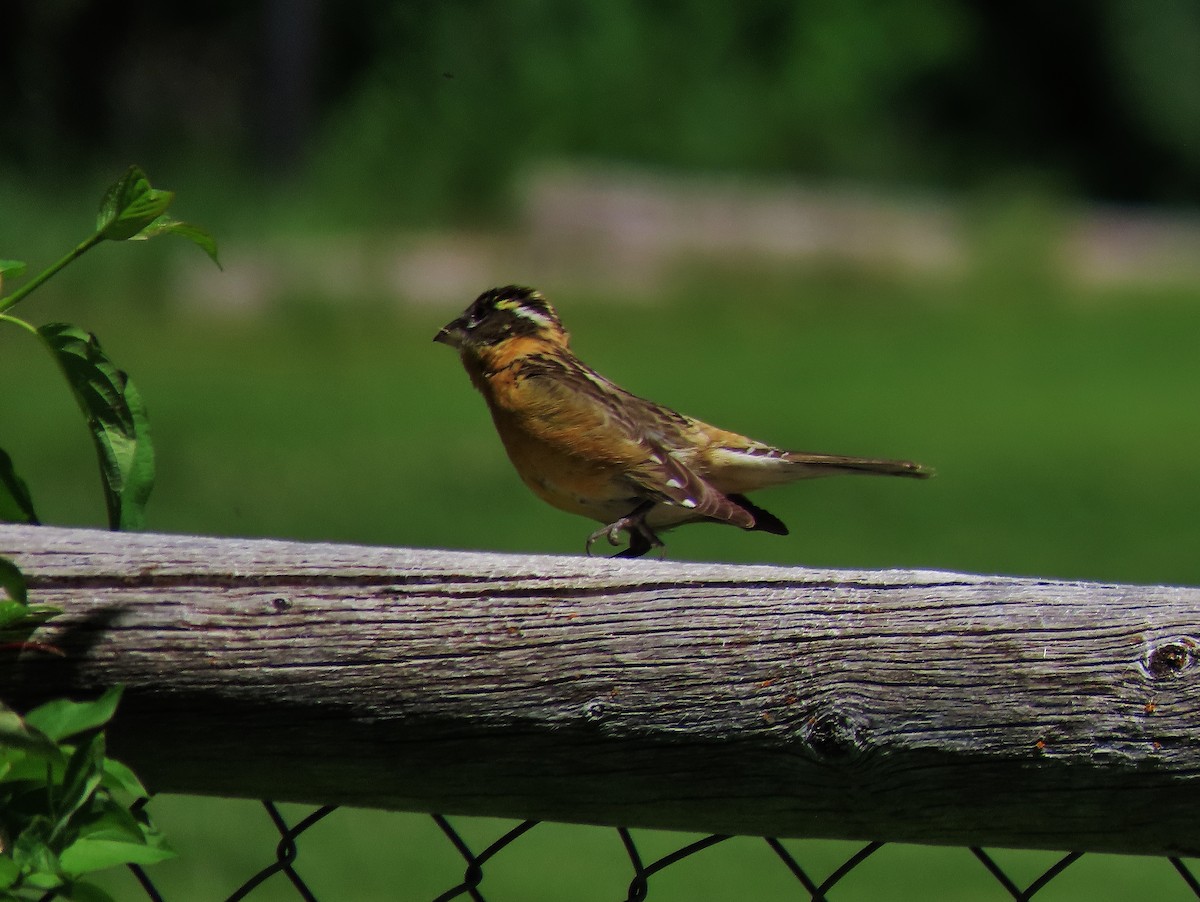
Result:
<svg viewBox="0 0 1200 902"><path fill-rule="evenodd" d="M787 451L625 391L581 361L558 313L533 288L484 291L433 341L458 350L522 481L544 501L592 519L628 546L618 558L661 548L659 533L727 523L787 535L749 498L802 479L882 474L925 479L912 461Z"/></svg>

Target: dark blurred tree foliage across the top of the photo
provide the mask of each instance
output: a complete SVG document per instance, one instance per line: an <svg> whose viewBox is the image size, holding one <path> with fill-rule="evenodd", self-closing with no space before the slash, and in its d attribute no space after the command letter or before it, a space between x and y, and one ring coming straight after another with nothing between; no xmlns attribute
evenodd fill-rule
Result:
<svg viewBox="0 0 1200 902"><path fill-rule="evenodd" d="M29 0L4 25L8 169L292 172L331 214L422 221L563 157L1200 200L1194 0Z"/></svg>

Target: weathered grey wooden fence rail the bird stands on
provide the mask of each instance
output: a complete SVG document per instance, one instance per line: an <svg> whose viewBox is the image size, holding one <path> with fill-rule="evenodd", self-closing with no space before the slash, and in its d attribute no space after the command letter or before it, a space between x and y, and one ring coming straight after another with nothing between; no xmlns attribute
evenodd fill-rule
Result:
<svg viewBox="0 0 1200 902"><path fill-rule="evenodd" d="M1200 854L1200 590L0 527L157 790Z"/></svg>

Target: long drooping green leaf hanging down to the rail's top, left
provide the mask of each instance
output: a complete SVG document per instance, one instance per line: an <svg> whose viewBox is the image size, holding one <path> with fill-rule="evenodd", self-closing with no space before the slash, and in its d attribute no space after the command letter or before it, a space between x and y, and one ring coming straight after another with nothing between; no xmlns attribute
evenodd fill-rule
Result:
<svg viewBox="0 0 1200 902"><path fill-rule="evenodd" d="M110 529L140 529L154 488L154 445L145 407L130 378L96 336L65 323L37 330L59 362L88 420Z"/></svg>

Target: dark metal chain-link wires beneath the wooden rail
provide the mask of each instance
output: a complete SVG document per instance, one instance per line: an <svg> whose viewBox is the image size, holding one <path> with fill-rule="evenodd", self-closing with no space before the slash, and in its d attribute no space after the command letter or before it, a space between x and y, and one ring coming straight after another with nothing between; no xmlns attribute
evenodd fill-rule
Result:
<svg viewBox="0 0 1200 902"><path fill-rule="evenodd" d="M146 801L148 800L142 800L139 805L145 805ZM242 883L232 895L227 896L226 902L240 902L241 900L250 900L250 902L253 902L256 891L269 878L281 873L286 876L290 883L295 898L304 900L304 902L314 902L317 896L310 888L308 883L305 882L305 878L301 876L299 870L299 840L306 831L320 820L324 820L336 808L334 806L316 807L306 816L295 820L295 823L288 823L274 802L263 801L262 805L278 834L278 842L275 846L272 859L250 879ZM448 876L448 889L433 896L431 902L450 902L451 900L487 902L490 896L485 895L487 891L485 884L488 865L496 862L498 856L503 855L505 850L510 849L514 843L521 840L521 837L528 835L530 831L538 828L547 829L552 826L551 824L544 824L538 820L524 820L510 829L504 830L490 843L482 846L479 850L475 850L475 848L473 848L472 844L464 838L463 830L460 826L456 826L450 818L442 814L432 814L431 817L440 834L444 835L445 840L452 846L464 864L461 877ZM467 818L458 820L470 819ZM611 828L596 829L607 830ZM654 878L656 876L661 874L667 868L683 867L689 859L692 859L703 853L706 849L719 846L720 843L732 838L722 835L703 836L698 840L682 844L667 854L648 860L643 854L642 847L638 844L638 841L630 830L625 828L616 828L614 832L624 850L624 858L628 859L631 872L624 902L643 902L644 900L650 898L653 895L652 890ZM786 873L794 878L798 888L802 890L800 894L788 895L787 898L809 900L810 902L856 902L856 898L863 898L863 896L856 897L854 895L844 894L841 891L839 891L836 898L834 898L830 894L834 890L838 890L839 885L842 884L851 873L859 868L865 861L868 861L868 859L876 855L876 853L884 848L886 844L882 842L866 843L857 852L848 855L839 865L833 867L826 877L816 878L811 876L810 870L803 866L800 861L797 860L797 855L788 850L780 840L774 837L763 837L762 842L767 844L773 853L774 859L778 859L780 866L786 871ZM983 872L990 876L995 883L1008 894L1008 896L1015 900L1015 902L1026 902L1027 900L1034 898L1034 896L1045 890L1072 865L1084 858L1084 854L1079 852L1066 853L1052 865L1037 873L1033 879L1028 880L1022 888L1018 879L1002 867L992 854L989 854L986 850L978 847L972 847L970 853L973 855L974 860L979 862ZM1169 858L1166 861L1177 873L1181 880L1181 884L1177 885L1181 886L1181 890L1186 894L1190 892L1192 896L1200 898L1200 879L1196 878L1188 864L1180 858ZM172 902L158 890L152 877L149 876L143 868L131 866L130 871L133 873L137 885L140 888L140 891L144 894L146 900L150 900L151 902ZM530 879L536 879L536 876L533 876ZM348 897L350 896L343 896L343 898ZM404 895L403 888L397 889L396 897L409 898L409 896ZM943 897L947 896L942 894L930 895L930 898ZM1123 896L1114 896L1114 898L1121 897ZM52 898L54 898L53 894L46 896L47 901ZM190 902L191 898L193 898L193 896L190 895L186 901L181 902Z"/></svg>

